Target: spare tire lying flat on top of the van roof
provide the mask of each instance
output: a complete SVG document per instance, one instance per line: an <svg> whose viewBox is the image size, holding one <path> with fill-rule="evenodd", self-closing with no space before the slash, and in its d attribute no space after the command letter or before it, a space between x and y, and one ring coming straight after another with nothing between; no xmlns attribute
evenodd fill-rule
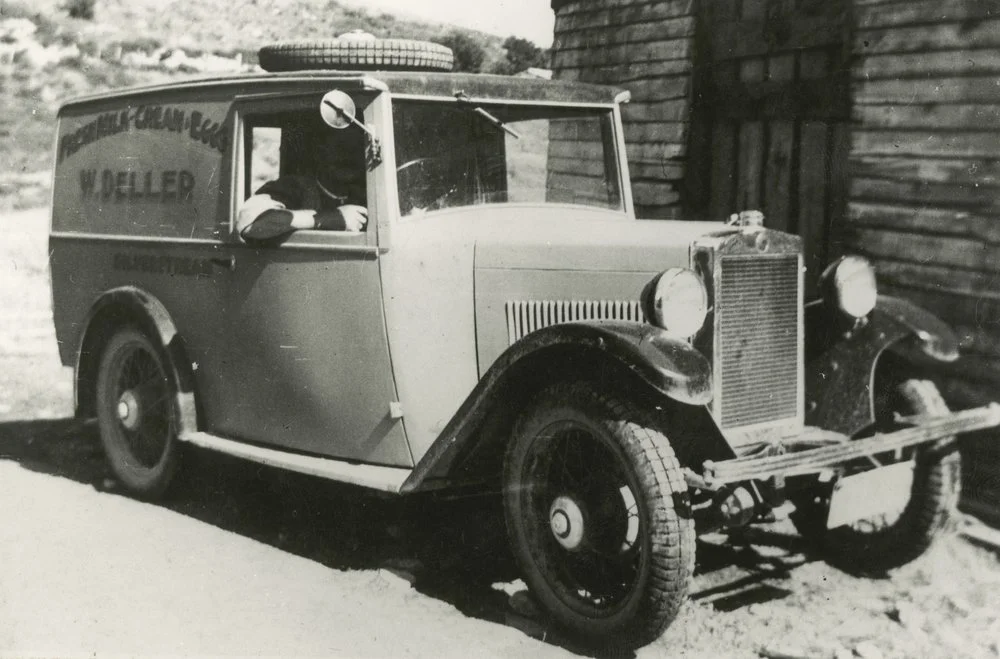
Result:
<svg viewBox="0 0 1000 659"><path fill-rule="evenodd" d="M316 69L352 71L451 71L451 48L431 41L376 39L349 32L325 41L288 41L264 46L258 53L265 71Z"/></svg>

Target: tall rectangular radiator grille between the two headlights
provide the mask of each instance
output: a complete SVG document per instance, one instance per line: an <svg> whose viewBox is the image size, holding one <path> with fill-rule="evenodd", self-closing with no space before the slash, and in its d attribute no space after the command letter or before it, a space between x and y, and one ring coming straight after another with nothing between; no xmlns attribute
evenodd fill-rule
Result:
<svg viewBox="0 0 1000 659"><path fill-rule="evenodd" d="M716 373L723 428L797 416L798 286L797 255L721 257Z"/></svg>

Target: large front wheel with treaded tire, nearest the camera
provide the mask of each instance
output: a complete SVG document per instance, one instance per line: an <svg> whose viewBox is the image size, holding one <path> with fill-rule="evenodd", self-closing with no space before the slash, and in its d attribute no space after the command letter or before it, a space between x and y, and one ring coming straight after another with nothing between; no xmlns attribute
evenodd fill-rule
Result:
<svg viewBox="0 0 1000 659"><path fill-rule="evenodd" d="M515 425L504 513L525 581L577 635L644 645L687 596L695 532L670 442L587 383L545 390Z"/></svg>

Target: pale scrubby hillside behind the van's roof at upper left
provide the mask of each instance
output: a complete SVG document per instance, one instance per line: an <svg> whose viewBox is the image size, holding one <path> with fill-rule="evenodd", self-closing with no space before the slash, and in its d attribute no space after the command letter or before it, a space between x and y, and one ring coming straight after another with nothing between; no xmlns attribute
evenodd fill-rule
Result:
<svg viewBox="0 0 1000 659"><path fill-rule="evenodd" d="M0 5L0 161L6 163L0 169L0 208L46 202L55 114L66 98L250 68L265 43L330 38L352 29L428 40L459 33L485 50L486 66L504 55L498 36L397 19L335 0L98 0L92 20L70 18L67 4ZM195 66L187 65L185 55L218 57Z"/></svg>

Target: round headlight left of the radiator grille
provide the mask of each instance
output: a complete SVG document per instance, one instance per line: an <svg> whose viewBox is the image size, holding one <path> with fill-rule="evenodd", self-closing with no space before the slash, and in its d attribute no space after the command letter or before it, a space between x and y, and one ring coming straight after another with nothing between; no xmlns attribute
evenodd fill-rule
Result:
<svg viewBox="0 0 1000 659"><path fill-rule="evenodd" d="M670 268L651 281L646 291L646 315L654 325L689 338L705 324L708 293L693 270Z"/></svg>

